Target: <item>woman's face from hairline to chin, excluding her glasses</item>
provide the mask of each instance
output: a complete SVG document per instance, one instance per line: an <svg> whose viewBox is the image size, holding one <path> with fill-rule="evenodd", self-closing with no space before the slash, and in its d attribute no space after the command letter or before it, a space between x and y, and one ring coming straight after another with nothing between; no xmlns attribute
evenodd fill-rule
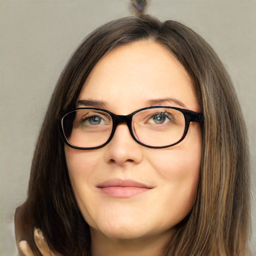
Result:
<svg viewBox="0 0 256 256"><path fill-rule="evenodd" d="M88 103L78 107L99 107L120 115L149 105L201 110L185 69L164 46L151 41L133 42L106 54L79 99ZM107 145L93 150L65 145L65 156L92 239L169 236L196 194L200 125L191 122L184 140L155 149L135 142L121 123ZM120 188L120 182L125 187Z"/></svg>

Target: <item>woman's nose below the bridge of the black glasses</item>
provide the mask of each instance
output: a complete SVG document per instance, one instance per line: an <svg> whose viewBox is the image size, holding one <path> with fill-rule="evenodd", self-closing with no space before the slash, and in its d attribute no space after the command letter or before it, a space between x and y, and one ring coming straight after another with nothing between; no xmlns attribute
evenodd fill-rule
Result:
<svg viewBox="0 0 256 256"><path fill-rule="evenodd" d="M124 165L139 163L143 158L143 146L130 135L126 123L119 123L111 141L105 146L105 160L110 163Z"/></svg>

